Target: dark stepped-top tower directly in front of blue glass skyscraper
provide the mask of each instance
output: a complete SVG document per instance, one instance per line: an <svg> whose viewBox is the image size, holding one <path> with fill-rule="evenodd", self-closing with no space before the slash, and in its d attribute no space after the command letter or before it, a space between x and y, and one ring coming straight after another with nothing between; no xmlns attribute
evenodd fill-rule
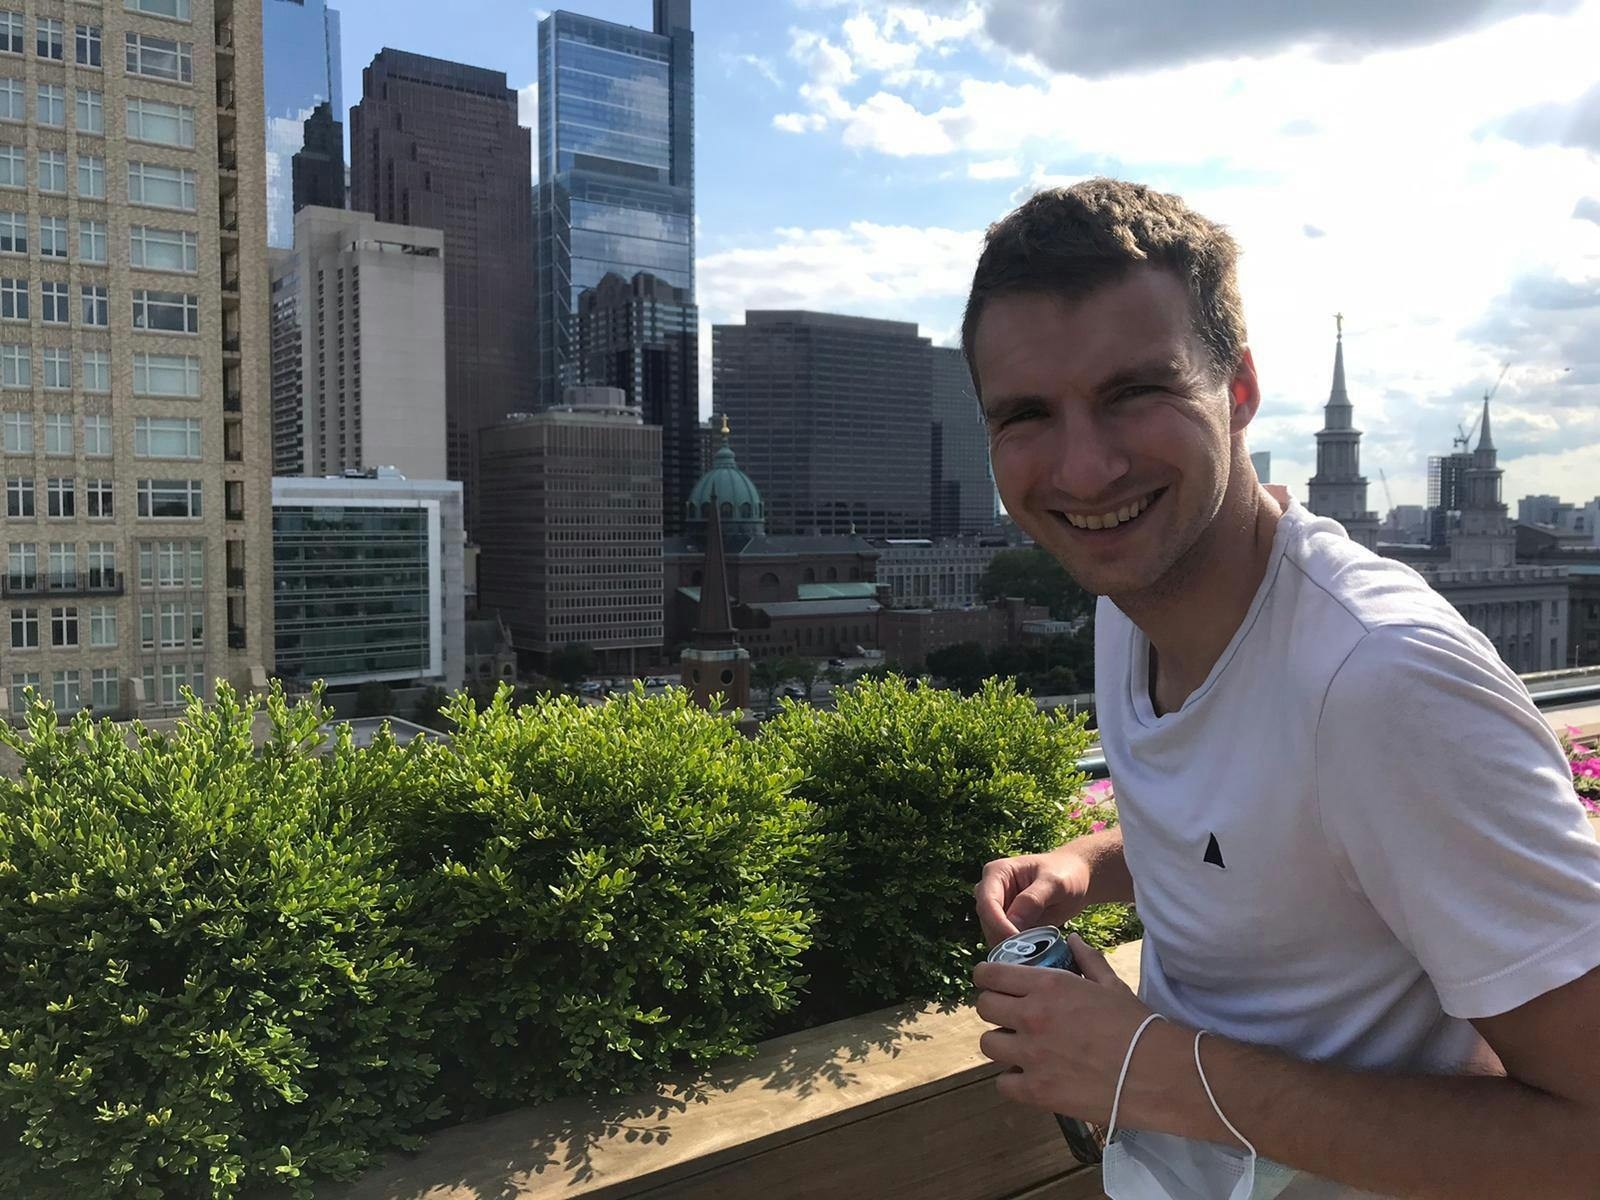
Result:
<svg viewBox="0 0 1600 1200"><path fill-rule="evenodd" d="M683 533L683 506L701 477L699 309L683 288L640 272L606 275L578 298L578 378L621 387L648 426L661 426L661 512Z"/></svg>

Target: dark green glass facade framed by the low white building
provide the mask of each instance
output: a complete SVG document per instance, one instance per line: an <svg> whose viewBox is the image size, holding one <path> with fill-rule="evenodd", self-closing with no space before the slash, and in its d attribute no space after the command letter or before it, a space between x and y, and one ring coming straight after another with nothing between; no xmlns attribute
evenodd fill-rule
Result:
<svg viewBox="0 0 1600 1200"><path fill-rule="evenodd" d="M272 506L277 674L434 674L430 515L422 507Z"/></svg>

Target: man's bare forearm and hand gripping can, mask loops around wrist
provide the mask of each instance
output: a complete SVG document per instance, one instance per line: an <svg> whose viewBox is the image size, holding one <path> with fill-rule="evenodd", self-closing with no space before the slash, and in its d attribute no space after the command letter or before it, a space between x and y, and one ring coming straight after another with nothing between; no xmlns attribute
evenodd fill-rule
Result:
<svg viewBox="0 0 1600 1200"><path fill-rule="evenodd" d="M1128 1040L1149 1011L1074 941L1085 978L979 963L982 1050L1022 1104L1104 1123ZM1592 1197L1600 1179L1600 970L1477 1021L1499 1062L1469 1075L1355 1072L1208 1035L1211 1091L1266 1158L1408 1200ZM1195 1072L1195 1030L1141 1038L1120 1123L1237 1146Z"/></svg>

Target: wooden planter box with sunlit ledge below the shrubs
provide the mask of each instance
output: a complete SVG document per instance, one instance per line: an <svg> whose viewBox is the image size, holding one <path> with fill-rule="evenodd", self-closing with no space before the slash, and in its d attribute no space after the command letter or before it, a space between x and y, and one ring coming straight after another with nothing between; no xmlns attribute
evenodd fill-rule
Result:
<svg viewBox="0 0 1600 1200"><path fill-rule="evenodd" d="M1138 986L1139 946L1112 954ZM762 1043L699 1085L445 1130L318 1200L1080 1200L1050 1114L1000 1099L968 1008L888 1008Z"/></svg>

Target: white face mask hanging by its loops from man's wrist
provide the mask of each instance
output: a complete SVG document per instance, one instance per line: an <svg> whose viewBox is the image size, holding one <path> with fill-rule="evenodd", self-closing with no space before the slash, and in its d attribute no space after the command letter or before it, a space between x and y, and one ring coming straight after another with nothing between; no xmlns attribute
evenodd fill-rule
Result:
<svg viewBox="0 0 1600 1200"><path fill-rule="evenodd" d="M1122 1075L1117 1078L1101 1168L1101 1187L1106 1195L1110 1200L1272 1200L1293 1182L1298 1171L1274 1162L1258 1162L1256 1147L1222 1115L1200 1067L1200 1034L1195 1035L1195 1069L1200 1070L1200 1082L1216 1115L1238 1138L1245 1152L1170 1133L1123 1130L1122 1136L1117 1134L1117 1107L1122 1102L1122 1085L1128 1077L1133 1048L1154 1018L1152 1013L1134 1032L1122 1064Z"/></svg>

